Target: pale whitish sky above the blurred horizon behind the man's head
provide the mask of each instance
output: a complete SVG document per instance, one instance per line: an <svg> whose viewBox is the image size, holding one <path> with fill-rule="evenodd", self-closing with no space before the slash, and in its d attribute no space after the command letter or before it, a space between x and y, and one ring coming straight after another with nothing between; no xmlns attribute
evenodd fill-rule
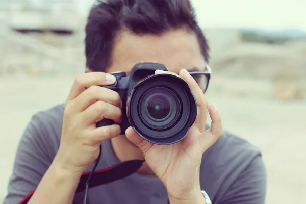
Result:
<svg viewBox="0 0 306 204"><path fill-rule="evenodd" d="M94 2L75 1L85 15L88 14L87 5ZM258 27L272 30L294 28L306 32L306 0L191 1L201 27Z"/></svg>

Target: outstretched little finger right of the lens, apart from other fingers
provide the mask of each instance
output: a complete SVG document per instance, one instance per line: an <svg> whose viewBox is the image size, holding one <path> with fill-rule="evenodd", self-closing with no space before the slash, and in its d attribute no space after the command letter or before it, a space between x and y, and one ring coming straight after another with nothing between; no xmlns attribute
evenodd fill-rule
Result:
<svg viewBox="0 0 306 204"><path fill-rule="evenodd" d="M211 128L199 137L203 152L210 148L223 134L222 119L215 104L211 104L208 111L212 119Z"/></svg>

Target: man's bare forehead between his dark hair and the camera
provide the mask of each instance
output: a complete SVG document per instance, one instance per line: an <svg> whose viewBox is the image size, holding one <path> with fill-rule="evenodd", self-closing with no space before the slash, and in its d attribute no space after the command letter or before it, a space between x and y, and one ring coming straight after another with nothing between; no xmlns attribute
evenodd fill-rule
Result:
<svg viewBox="0 0 306 204"><path fill-rule="evenodd" d="M129 73L141 61L164 64L175 73L183 68L205 71L206 67L195 34L185 30L170 31L161 36L122 32L115 42L113 63L108 72Z"/></svg>

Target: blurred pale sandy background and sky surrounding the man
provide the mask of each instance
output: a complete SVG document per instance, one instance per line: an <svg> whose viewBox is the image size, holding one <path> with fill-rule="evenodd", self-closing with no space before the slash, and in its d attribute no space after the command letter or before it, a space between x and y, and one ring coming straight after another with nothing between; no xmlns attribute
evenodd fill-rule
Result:
<svg viewBox="0 0 306 204"><path fill-rule="evenodd" d="M31 116L63 103L85 69L93 2L0 1L0 201ZM305 203L306 2L192 2L211 47L208 100L225 129L262 150L266 203Z"/></svg>

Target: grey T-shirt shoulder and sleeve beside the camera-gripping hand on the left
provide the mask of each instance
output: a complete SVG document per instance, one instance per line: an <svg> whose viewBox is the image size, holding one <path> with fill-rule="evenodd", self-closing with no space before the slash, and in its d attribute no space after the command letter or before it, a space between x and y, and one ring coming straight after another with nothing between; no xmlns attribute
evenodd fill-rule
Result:
<svg viewBox="0 0 306 204"><path fill-rule="evenodd" d="M19 203L39 184L60 144L64 106L34 114L24 130L4 203Z"/></svg>

